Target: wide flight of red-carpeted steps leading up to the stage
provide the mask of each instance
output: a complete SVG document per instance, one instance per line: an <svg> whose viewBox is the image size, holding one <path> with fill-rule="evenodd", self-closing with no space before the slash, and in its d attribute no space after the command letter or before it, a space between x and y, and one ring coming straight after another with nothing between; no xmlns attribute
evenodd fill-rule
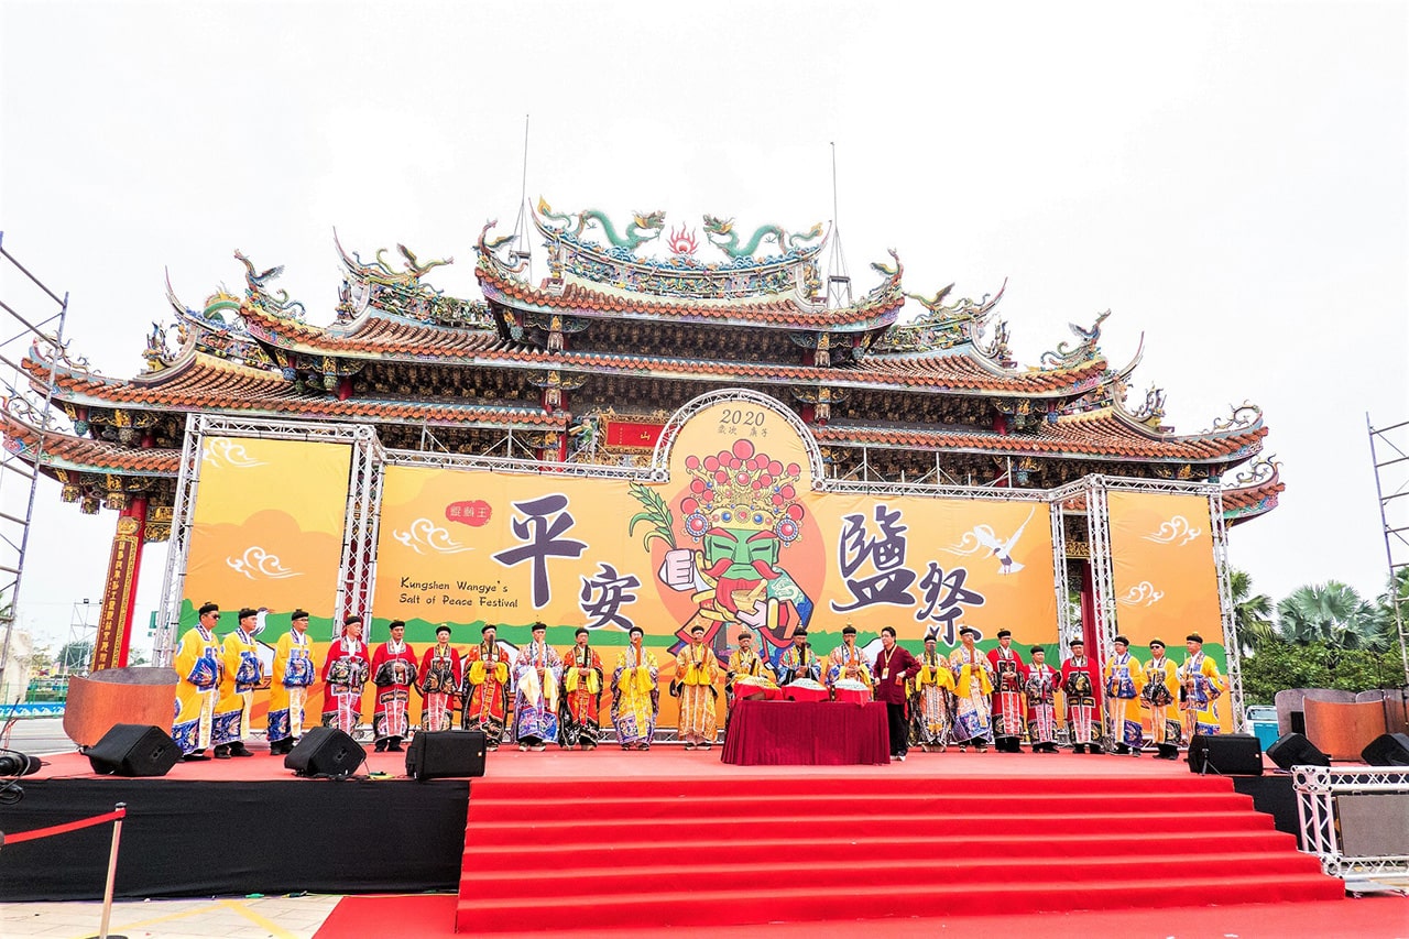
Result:
<svg viewBox="0 0 1409 939"><path fill-rule="evenodd" d="M600 932L1344 895L1223 778L809 773L479 780L457 929Z"/></svg>

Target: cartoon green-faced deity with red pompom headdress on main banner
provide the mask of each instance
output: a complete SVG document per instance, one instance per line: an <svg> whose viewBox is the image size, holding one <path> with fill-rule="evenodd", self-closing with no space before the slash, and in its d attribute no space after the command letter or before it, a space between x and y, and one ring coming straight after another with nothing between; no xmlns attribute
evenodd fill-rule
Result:
<svg viewBox="0 0 1409 939"><path fill-rule="evenodd" d="M778 564L782 548L802 536L805 510L793 488L802 471L797 464L783 467L755 453L747 440L704 458L692 454L685 468L690 475L690 491L681 501L685 533L703 543L703 550L676 547L669 508L645 486L633 486L647 510L631 519L631 529L638 522L654 522L647 546L654 537L669 544L661 581L674 591L689 591L699 602L699 610L676 636L686 642L700 625L704 642L721 654L743 630L755 629L776 663L793 630L807 625L813 608L802 587Z"/></svg>

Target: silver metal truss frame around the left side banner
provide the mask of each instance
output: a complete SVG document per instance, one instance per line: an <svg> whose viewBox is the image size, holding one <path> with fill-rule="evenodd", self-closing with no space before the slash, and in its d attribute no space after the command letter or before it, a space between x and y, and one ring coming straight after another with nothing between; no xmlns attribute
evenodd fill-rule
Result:
<svg viewBox="0 0 1409 939"><path fill-rule="evenodd" d="M200 488L200 457L207 437L304 440L352 447L352 471L348 479L334 619L341 619L349 612L364 612L371 603L376 585L376 534L382 501L380 468L386 460L376 430L366 424L187 415L180 471L176 477L176 501L172 508L172 534L166 550L166 570L162 575L162 599L156 613L156 664L169 665L176 649L176 630L180 625L180 605L186 587L186 565L190 560L196 492Z"/></svg>

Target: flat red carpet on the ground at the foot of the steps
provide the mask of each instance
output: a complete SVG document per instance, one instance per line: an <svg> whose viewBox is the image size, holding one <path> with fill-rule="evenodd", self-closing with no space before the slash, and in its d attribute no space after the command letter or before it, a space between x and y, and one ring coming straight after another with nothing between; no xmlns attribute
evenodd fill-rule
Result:
<svg viewBox="0 0 1409 939"><path fill-rule="evenodd" d="M366 939L366 936L417 936L455 939L455 897L347 897L328 915L314 939ZM781 914L782 915L782 914ZM841 923L837 923L841 925ZM844 929L862 923L845 922ZM769 926L685 926L671 939L743 939L766 929L769 939L814 939L816 923ZM869 939L993 939L993 936L1043 936L1043 939L1403 939L1409 936L1409 900L1365 897L1295 904L1240 904L1236 907L1165 907L1158 909L1102 909L1048 914L972 914L916 919L871 919ZM464 935L464 933L459 933ZM541 933L538 933L541 935ZM655 939L657 929L614 931L616 939Z"/></svg>

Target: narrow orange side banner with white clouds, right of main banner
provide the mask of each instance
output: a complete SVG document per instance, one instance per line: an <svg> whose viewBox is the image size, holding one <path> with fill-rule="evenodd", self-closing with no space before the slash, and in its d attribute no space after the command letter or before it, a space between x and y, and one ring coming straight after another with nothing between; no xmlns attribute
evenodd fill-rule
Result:
<svg viewBox="0 0 1409 939"><path fill-rule="evenodd" d="M1169 658L1185 660L1185 636L1199 633L1203 653L1227 677L1213 526L1205 495L1169 492L1106 493L1110 515L1116 627L1130 653L1150 660L1150 640L1161 639ZM1226 701L1226 698L1224 698ZM1231 729L1223 701L1219 722Z"/></svg>

